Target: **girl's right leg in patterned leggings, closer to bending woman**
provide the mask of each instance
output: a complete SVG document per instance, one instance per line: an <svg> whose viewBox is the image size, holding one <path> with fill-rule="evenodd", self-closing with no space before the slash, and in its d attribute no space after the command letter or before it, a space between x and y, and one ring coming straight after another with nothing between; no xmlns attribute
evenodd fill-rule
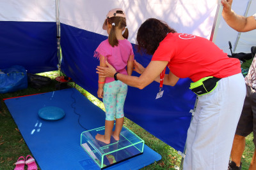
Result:
<svg viewBox="0 0 256 170"><path fill-rule="evenodd" d="M116 97L116 126L115 131L113 132L113 137L118 141L120 139L119 135L124 124L124 102L127 95L128 86L122 81L117 81L117 83L120 87L120 91Z"/></svg>

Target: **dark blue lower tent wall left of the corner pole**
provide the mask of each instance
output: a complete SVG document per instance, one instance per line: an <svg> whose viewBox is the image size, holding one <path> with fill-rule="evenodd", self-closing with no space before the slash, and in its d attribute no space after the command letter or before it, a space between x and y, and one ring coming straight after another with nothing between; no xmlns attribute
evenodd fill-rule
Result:
<svg viewBox="0 0 256 170"><path fill-rule="evenodd" d="M0 69L14 65L28 73L58 67L56 22L0 21Z"/></svg>

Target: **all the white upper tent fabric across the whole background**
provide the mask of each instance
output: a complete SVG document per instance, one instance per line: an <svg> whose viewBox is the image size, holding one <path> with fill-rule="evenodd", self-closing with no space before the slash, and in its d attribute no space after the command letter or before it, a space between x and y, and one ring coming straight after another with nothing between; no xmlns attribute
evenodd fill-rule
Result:
<svg viewBox="0 0 256 170"><path fill-rule="evenodd" d="M232 9L239 15L246 16L256 13L256 0L234 0ZM87 31L107 35L102 30L102 22L111 8L120 7L127 13L127 25L130 31L129 40L136 41L136 31L147 18L154 17L166 21L178 32L195 34L210 38L217 1L181 0L181 1L90 1L90 0L60 0L60 20L64 24L72 25ZM1 21L56 21L55 0L1 0ZM221 16L220 16L221 17ZM228 41L232 42L234 52L250 52L250 46L255 46L256 30L239 34L231 29L220 18L220 25L216 35L216 45L230 54ZM236 45L237 44L237 45Z"/></svg>

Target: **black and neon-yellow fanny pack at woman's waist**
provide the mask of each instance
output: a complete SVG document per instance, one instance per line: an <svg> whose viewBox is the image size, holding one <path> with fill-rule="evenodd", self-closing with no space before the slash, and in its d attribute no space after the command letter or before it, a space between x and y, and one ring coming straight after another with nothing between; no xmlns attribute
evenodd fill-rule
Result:
<svg viewBox="0 0 256 170"><path fill-rule="evenodd" d="M213 76L202 78L195 83L190 83L189 89L192 90L198 96L211 93L218 85L218 81L221 78L216 78Z"/></svg>

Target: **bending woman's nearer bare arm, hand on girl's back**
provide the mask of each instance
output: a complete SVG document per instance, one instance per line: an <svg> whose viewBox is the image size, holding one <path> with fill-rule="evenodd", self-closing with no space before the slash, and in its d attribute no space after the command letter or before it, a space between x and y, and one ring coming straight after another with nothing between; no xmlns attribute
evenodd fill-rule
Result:
<svg viewBox="0 0 256 170"><path fill-rule="evenodd" d="M108 67L101 67L97 66L97 73L103 77L114 77L116 70L112 67L108 62L106 62ZM157 76L163 71L163 69L167 66L168 61L158 61L154 60L151 61L148 66L146 67L145 71L140 75L137 76L128 76L125 74L116 74L117 80L124 82L125 84L137 87L138 89L143 89L152 81L154 81Z"/></svg>

